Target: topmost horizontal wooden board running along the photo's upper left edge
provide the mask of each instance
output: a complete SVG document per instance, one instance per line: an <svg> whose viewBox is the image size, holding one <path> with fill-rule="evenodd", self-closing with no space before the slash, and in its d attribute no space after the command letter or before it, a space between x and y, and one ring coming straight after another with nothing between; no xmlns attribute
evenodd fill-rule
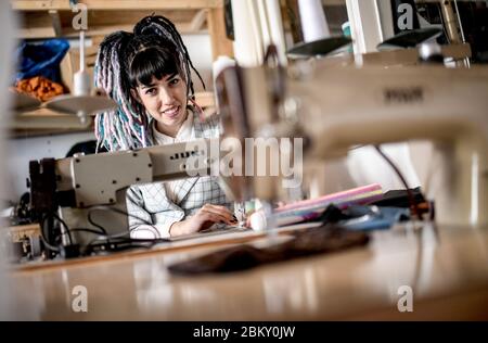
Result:
<svg viewBox="0 0 488 343"><path fill-rule="evenodd" d="M222 0L80 0L88 10L190 10L218 9ZM17 11L70 11L69 0L12 0L12 9Z"/></svg>

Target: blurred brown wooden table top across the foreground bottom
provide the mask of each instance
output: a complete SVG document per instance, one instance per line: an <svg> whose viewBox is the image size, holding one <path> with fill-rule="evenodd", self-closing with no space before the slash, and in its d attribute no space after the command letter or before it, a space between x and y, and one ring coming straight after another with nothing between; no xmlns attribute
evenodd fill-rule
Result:
<svg viewBox="0 0 488 343"><path fill-rule="evenodd" d="M181 241L152 251L13 269L12 319L326 320L488 319L488 229L425 226L373 233L369 245L248 271L177 277L167 266L255 232ZM215 239L214 239L215 240ZM87 313L72 304L88 292ZM413 291L413 312L397 303Z"/></svg>

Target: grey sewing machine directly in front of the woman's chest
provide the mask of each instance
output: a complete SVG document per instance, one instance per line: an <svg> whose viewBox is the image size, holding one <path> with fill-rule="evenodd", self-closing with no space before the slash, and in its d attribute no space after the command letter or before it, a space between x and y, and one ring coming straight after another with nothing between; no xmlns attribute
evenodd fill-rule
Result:
<svg viewBox="0 0 488 343"><path fill-rule="evenodd" d="M88 244L94 236L85 229L103 228L105 234L128 233L127 188L136 183L209 175L211 161L207 152L214 144L218 144L218 139L31 161L30 202L41 230L44 225L48 227L42 233L47 240L61 236L65 246ZM60 232L53 232L54 225L48 223L48 214L64 221ZM68 229L75 230L68 233ZM77 253L73 252L74 255Z"/></svg>

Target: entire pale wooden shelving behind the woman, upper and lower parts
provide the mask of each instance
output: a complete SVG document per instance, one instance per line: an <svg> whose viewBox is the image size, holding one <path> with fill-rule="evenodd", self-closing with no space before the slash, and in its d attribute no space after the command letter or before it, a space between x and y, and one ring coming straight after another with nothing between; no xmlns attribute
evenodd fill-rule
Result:
<svg viewBox="0 0 488 343"><path fill-rule="evenodd" d="M222 54L233 55L232 41L227 39L224 31L223 0L79 0L78 3L86 4L88 9L86 36L92 41L92 46L86 48L89 73L92 73L99 45L106 35L120 29L130 31L140 18L152 13L168 17L183 35L208 34L214 60ZM69 0L11 0L11 4L22 23L17 38L78 37L72 25L76 13L72 12ZM73 88L73 74L78 69L78 51L72 48L61 63L63 82L68 89ZM215 110L211 92L197 93L196 98L206 113ZM39 109L16 116L11 130L17 137L26 132L42 135L80 130L76 120L72 115ZM29 123L33 125L30 129Z"/></svg>

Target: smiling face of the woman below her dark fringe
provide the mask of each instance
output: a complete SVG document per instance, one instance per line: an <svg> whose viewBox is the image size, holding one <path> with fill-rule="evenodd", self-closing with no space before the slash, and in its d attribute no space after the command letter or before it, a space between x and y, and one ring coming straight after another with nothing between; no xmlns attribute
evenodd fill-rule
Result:
<svg viewBox="0 0 488 343"><path fill-rule="evenodd" d="M176 134L187 119L187 84L180 75L166 75L159 80L153 76L151 85L139 85L137 92L164 134Z"/></svg>

